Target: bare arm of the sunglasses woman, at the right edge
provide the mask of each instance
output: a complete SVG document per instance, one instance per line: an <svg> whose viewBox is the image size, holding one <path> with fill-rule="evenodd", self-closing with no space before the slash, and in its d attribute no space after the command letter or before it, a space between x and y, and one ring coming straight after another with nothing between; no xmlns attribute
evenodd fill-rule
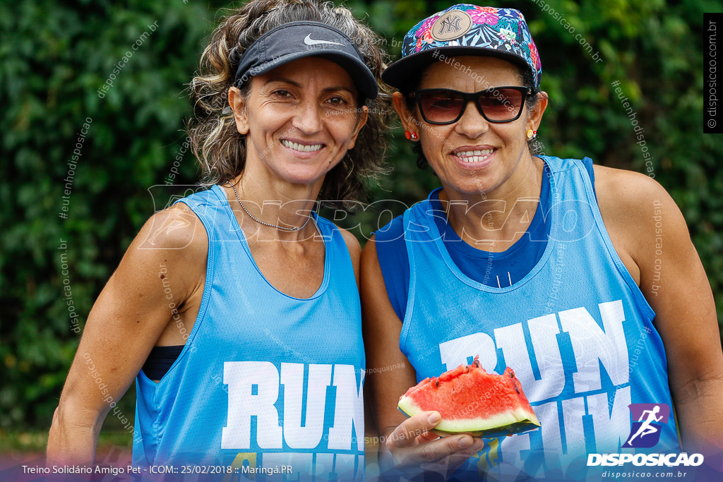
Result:
<svg viewBox="0 0 723 482"><path fill-rule="evenodd" d="M656 312L683 449L712 455L723 447L723 352L713 293L688 226L648 176L603 168L596 179L615 248L635 262L641 291Z"/></svg>

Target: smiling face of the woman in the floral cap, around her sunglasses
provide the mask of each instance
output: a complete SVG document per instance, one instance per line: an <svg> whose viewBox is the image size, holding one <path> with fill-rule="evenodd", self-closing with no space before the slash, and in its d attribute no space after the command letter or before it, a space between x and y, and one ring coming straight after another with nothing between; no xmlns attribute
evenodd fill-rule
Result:
<svg viewBox="0 0 723 482"><path fill-rule="evenodd" d="M437 61L427 67L417 90L479 92L491 87L522 85L517 67L508 61L486 56L460 56L452 60L449 64ZM455 69L455 61L464 69ZM437 125L427 124L418 107L410 111L401 94L395 93L394 101L405 129L417 133L424 157L445 189L463 194L495 191L514 176L524 160L531 160L526 132L537 129L547 106L547 100L540 98L534 112L525 106L517 120L497 124L485 120L474 103L467 103L454 124Z"/></svg>

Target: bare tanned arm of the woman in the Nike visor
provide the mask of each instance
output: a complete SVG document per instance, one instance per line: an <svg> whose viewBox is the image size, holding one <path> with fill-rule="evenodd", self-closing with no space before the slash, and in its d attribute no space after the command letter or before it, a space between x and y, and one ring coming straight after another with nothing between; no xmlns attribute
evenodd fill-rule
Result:
<svg viewBox="0 0 723 482"><path fill-rule="evenodd" d="M207 254L205 228L186 205L145 223L88 315L53 416L48 465L93 463L110 404L128 390L172 317L166 290L176 306L202 290Z"/></svg>

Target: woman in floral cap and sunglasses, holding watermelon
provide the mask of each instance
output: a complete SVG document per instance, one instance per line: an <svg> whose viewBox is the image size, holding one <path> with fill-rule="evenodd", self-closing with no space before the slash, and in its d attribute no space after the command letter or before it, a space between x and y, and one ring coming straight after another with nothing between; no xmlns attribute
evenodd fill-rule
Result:
<svg viewBox="0 0 723 482"><path fill-rule="evenodd" d="M723 354L685 220L648 176L536 155L541 74L521 12L467 4L412 28L382 74L441 184L362 254L382 471L585 480L589 454L680 452L678 422L688 452L722 442ZM439 413L396 410L476 356L515 371L539 429L436 439ZM653 407L656 435L628 443Z"/></svg>

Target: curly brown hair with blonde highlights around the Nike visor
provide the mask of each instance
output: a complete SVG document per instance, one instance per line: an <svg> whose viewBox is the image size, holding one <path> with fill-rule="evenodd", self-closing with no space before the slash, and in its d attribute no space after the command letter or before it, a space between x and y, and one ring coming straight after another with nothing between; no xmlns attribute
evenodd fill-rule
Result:
<svg viewBox="0 0 723 482"><path fill-rule="evenodd" d="M200 72L189 84L194 117L187 123L191 151L200 163L202 186L223 184L244 171L246 136L239 134L228 106L228 88L243 53L261 35L288 22L322 22L341 30L354 42L380 87L375 100L367 100L369 117L354 148L327 173L319 199L328 207L351 211L366 199L368 181L381 172L387 150L384 132L390 113L390 90L380 81L387 55L383 42L367 25L354 19L346 7L319 0L252 0L240 9L226 9L202 53ZM241 93L248 95L248 85Z"/></svg>

